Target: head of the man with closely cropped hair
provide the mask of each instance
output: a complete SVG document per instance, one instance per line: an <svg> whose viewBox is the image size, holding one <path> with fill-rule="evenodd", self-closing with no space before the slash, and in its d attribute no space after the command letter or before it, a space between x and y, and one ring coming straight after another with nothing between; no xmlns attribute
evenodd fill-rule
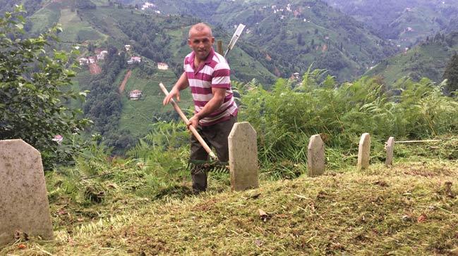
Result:
<svg viewBox="0 0 458 256"><path fill-rule="evenodd" d="M215 37L212 35L212 29L205 23L195 24L189 30L188 45L199 60L207 58L214 42Z"/></svg>

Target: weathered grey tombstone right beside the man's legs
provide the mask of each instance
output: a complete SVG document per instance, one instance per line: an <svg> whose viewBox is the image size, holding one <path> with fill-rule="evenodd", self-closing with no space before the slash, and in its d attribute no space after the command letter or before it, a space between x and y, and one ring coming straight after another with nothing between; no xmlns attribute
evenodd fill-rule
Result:
<svg viewBox="0 0 458 256"><path fill-rule="evenodd" d="M231 190L258 188L258 144L256 131L248 122L237 122L229 140L229 169Z"/></svg>

